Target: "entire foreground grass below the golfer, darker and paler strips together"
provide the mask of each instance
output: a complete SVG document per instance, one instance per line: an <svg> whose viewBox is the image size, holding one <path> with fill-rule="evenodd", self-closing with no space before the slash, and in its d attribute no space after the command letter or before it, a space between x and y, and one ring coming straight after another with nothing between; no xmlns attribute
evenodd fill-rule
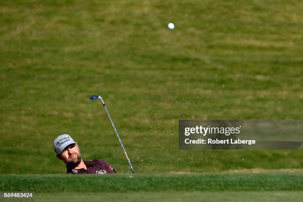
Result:
<svg viewBox="0 0 303 202"><path fill-rule="evenodd" d="M62 200L299 202L303 197L302 171L103 176L1 175L0 182L1 191L33 192L34 198L31 201L39 202Z"/></svg>

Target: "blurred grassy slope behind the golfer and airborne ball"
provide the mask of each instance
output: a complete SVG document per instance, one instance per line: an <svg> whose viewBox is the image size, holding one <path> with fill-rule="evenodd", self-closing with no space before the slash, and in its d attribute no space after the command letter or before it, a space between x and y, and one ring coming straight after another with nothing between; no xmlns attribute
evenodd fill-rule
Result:
<svg viewBox="0 0 303 202"><path fill-rule="evenodd" d="M138 173L302 168L302 151L180 151L179 119L300 120L303 2L0 1L0 173L64 173L52 142ZM167 24L173 22L174 30Z"/></svg>

